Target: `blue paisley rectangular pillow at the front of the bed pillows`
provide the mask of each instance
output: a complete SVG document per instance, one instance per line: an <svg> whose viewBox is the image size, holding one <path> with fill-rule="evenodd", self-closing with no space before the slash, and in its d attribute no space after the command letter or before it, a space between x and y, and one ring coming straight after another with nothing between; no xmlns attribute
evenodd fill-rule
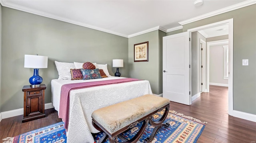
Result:
<svg viewBox="0 0 256 143"><path fill-rule="evenodd" d="M99 69L80 69L83 74L83 80L102 78Z"/></svg>

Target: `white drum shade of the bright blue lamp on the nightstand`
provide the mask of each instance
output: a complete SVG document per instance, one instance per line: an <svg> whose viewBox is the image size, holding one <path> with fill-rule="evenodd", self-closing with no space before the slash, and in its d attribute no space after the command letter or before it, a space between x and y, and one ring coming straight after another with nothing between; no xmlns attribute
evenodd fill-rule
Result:
<svg viewBox="0 0 256 143"><path fill-rule="evenodd" d="M25 55L24 56L24 68L47 68L48 57L38 55Z"/></svg>

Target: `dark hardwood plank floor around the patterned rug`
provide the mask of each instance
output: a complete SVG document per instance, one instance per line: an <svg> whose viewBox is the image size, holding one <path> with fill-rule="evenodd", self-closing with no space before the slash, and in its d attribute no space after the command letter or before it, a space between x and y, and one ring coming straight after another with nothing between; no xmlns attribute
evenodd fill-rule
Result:
<svg viewBox="0 0 256 143"><path fill-rule="evenodd" d="M228 116L227 87L210 86L210 92L202 93L192 105L171 102L170 110L208 122L197 143L256 143L256 122ZM25 123L21 122L22 115L2 119L0 139L14 137L61 121L53 108L45 112L46 118Z"/></svg>

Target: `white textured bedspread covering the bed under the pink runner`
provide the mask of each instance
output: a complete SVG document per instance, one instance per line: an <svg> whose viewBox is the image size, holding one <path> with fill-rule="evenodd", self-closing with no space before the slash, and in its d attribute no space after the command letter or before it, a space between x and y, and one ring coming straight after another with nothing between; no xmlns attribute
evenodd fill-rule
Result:
<svg viewBox="0 0 256 143"><path fill-rule="evenodd" d="M52 103L59 112L61 86L69 83L112 80L122 77L110 76L92 80L58 80L53 79ZM145 94L152 94L148 80L125 82L72 90L70 92L69 123L67 143L94 143L91 133L99 131L92 126L92 112L125 100L130 100Z"/></svg>

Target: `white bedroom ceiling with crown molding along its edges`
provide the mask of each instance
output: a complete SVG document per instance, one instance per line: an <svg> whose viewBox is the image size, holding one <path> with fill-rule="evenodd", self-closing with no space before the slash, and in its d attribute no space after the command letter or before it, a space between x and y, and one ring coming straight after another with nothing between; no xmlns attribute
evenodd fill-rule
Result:
<svg viewBox="0 0 256 143"><path fill-rule="evenodd" d="M0 0L2 6L64 22L132 37L160 29L168 32L181 25L220 14L255 0ZM247 6L246 5L246 6ZM225 11L226 10L226 11Z"/></svg>

